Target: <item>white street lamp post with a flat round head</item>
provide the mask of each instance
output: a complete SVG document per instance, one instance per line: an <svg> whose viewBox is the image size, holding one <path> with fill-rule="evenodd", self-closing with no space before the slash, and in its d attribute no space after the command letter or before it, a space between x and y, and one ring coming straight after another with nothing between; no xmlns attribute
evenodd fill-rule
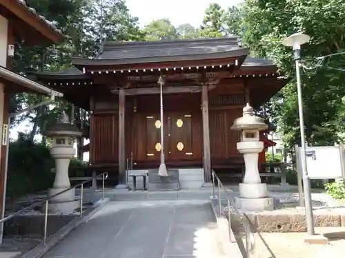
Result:
<svg viewBox="0 0 345 258"><path fill-rule="evenodd" d="M304 191L304 206L306 208L306 225L308 235L315 235L313 206L311 204L311 180L308 175L306 167L306 140L304 136L304 118L303 118L303 100L302 100L302 86L301 86L301 45L307 43L311 39L310 36L302 33L295 33L288 36L282 42L287 47L293 47L293 57L296 63L296 77L297 77L297 98L298 98L298 113L299 113L299 127L301 130L301 144L302 144L302 174L303 174L303 191Z"/></svg>

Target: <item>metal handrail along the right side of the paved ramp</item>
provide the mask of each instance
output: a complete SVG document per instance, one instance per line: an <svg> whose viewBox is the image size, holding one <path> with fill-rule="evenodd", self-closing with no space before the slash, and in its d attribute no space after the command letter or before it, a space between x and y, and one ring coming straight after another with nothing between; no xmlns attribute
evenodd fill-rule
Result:
<svg viewBox="0 0 345 258"><path fill-rule="evenodd" d="M224 190L226 193L226 200L227 200L227 205L228 205L228 234L229 234L229 239L232 243L236 242L236 239L233 239L233 230L231 229L231 217L230 217L230 206L233 208L233 211L239 216L239 218L242 221L242 225L244 227L244 231L246 233L246 258L250 258L250 253L253 252L254 247L255 247L255 239L254 239L254 234L252 233L250 229L250 222L248 221L248 217L246 216L246 213L241 213L237 206L235 205L235 202L233 201L233 198L231 197L230 193L228 190L226 190L226 187L224 184L221 182L221 180L218 178L217 174L215 173L214 170L212 170L212 181L213 181L213 197L216 197L215 195L215 180L217 180L217 186L218 186L218 213L219 215L222 214L221 211L221 188Z"/></svg>

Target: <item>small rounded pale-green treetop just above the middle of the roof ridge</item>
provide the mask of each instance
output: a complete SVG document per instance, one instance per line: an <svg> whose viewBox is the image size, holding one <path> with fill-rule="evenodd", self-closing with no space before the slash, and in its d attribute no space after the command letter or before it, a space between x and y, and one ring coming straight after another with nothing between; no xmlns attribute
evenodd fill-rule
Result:
<svg viewBox="0 0 345 258"><path fill-rule="evenodd" d="M169 19L151 21L144 28L147 41L159 41L161 39L177 39L178 34Z"/></svg>

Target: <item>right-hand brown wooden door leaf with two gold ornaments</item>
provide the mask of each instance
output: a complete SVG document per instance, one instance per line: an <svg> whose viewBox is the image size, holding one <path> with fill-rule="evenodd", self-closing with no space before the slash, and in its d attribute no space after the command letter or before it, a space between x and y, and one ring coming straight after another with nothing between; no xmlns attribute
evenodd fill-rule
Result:
<svg viewBox="0 0 345 258"><path fill-rule="evenodd" d="M170 113L167 122L167 159L193 159L192 115Z"/></svg>

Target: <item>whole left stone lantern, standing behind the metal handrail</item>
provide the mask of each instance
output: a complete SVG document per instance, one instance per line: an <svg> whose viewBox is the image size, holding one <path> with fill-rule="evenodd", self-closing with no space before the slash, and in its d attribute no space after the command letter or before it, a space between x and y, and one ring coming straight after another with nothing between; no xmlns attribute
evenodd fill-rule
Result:
<svg viewBox="0 0 345 258"><path fill-rule="evenodd" d="M69 122L68 116L63 112L57 119L57 123L46 131L46 136L52 138L50 155L55 159L56 166L54 184L51 189L48 189L50 197L70 188L68 166L70 159L75 156L76 150L73 148L75 138L81 136L81 132ZM53 197L49 202L51 212L72 213L79 207L79 200L75 198L75 189Z"/></svg>

